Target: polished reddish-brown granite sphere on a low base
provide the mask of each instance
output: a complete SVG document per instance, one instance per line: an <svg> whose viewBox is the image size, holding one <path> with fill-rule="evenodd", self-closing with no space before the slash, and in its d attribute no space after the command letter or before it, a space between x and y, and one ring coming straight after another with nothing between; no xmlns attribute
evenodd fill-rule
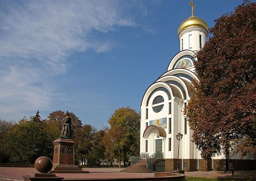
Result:
<svg viewBox="0 0 256 181"><path fill-rule="evenodd" d="M41 156L36 159L35 168L41 173L47 173L52 170L52 160L47 156Z"/></svg>

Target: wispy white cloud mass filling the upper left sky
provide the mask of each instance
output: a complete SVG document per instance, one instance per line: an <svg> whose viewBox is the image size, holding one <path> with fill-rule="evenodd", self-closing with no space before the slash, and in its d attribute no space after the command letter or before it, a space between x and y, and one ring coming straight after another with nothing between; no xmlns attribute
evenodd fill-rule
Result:
<svg viewBox="0 0 256 181"><path fill-rule="evenodd" d="M75 51L102 53L113 45L88 38L120 26L137 26L116 1L1 1L1 117L46 109L52 76L67 71Z"/></svg>

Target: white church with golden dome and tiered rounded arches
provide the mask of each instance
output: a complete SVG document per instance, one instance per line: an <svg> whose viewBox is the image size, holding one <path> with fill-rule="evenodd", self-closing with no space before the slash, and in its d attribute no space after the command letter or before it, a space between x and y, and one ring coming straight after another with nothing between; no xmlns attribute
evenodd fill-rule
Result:
<svg viewBox="0 0 256 181"><path fill-rule="evenodd" d="M239 155L220 155L205 161L191 141L193 132L189 129L184 108L193 96L189 91L191 82L198 80L194 66L196 52L204 46L207 37L207 23L193 16L192 8L192 16L178 28L180 52L171 59L167 71L147 88L141 100L140 153L149 156L163 153L165 171L177 170L178 154L179 169L185 171L226 170L228 159L240 159ZM183 135L179 153L178 133ZM255 159L245 164L255 167Z"/></svg>

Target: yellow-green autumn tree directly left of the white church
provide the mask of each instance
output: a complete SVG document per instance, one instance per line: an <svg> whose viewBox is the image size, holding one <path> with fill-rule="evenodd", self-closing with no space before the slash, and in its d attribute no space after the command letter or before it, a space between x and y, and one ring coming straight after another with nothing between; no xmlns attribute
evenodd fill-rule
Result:
<svg viewBox="0 0 256 181"><path fill-rule="evenodd" d="M119 168L122 155L125 164L128 152L139 152L139 119L140 115L134 109L123 107L116 109L108 120L110 128L104 136L106 152L113 156L118 151Z"/></svg>

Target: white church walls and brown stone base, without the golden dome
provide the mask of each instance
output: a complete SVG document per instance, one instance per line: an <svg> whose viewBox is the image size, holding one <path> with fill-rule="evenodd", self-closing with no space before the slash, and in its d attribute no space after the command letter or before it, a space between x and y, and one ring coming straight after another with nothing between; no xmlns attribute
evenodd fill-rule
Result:
<svg viewBox="0 0 256 181"><path fill-rule="evenodd" d="M189 35L192 36L192 48L189 48ZM185 84L182 82L185 78L179 78L173 76L177 73L185 73L193 79L197 79L195 72L195 66L188 67L187 69L173 69L175 62L184 55L189 55L195 57L195 52L200 50L199 44L199 35L202 35L202 47L204 46L206 39L208 37L208 32L203 28L193 27L188 28L182 31L179 34L180 40L180 52L176 54L170 64L168 65L167 72L165 72L160 78L158 78L154 84L152 84L147 91L145 92L142 103L141 103L141 122L140 122L140 153L146 152L146 144L145 141L148 140L148 153L152 155L155 153L155 140L162 139L162 152L164 152L165 158L165 171L171 171L177 169L177 161L178 161L178 141L176 140L176 134L179 132L183 134L183 138L180 140L180 169L184 169L185 171L210 171L210 170L226 170L228 167L228 159L233 160L237 165L237 169L244 170L255 170L255 158L252 155L248 155L248 157L244 158L245 160L241 160L241 155L229 156L226 159L225 155L216 155L211 160L204 160L200 156L200 151L196 149L195 144L191 141L193 131L189 129L188 121L187 121L187 134L185 134L185 115L184 115L184 103L188 103L190 97L188 95L188 90L185 88ZM183 39L183 50L181 39ZM196 60L196 58L195 58ZM173 73L172 73L173 72ZM172 93L172 88L168 87L164 82L172 79L180 82L186 90L187 99L181 99L177 96L174 96ZM187 80L187 79L186 79ZM189 82L189 80L187 80ZM167 86L167 87L165 87ZM171 100L168 100L168 96L164 91L156 91L149 99L148 106L146 106L146 102L148 100L149 94L158 87L165 87L171 93ZM174 86L175 87L175 86ZM152 109L152 102L156 96L161 95L164 98L163 109L156 113ZM181 95L183 96L182 92ZM183 97L182 97L183 98ZM169 114L169 103L172 103L172 111ZM148 109L148 119L146 119L146 109ZM148 139L143 138L143 133L146 129L146 123L148 126L150 125L149 121L156 120L160 118L167 119L166 128L164 128L166 132L166 137L157 138L157 130L152 130ZM169 133L169 118L172 119L171 123L171 133ZM171 138L171 151L169 151L169 138ZM239 164L239 163L242 164ZM254 165L253 165L254 164ZM184 168L184 165L186 168Z"/></svg>

